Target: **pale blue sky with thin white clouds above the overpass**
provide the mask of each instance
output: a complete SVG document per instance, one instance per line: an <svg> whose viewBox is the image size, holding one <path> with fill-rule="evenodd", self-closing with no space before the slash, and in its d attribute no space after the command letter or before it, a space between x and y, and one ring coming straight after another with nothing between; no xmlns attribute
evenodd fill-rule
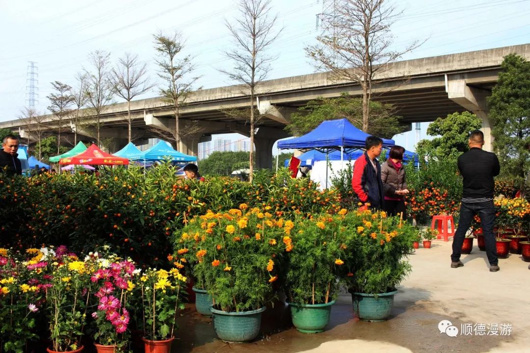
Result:
<svg viewBox="0 0 530 353"><path fill-rule="evenodd" d="M314 72L304 48L315 42L319 33L316 14L324 4L324 0L272 0L278 25L284 30L270 50L278 59L269 78ZM530 42L530 0L408 0L393 4L403 10L393 26L395 48L427 39L402 59ZM158 31L183 34L183 52L195 57L196 74L201 75L198 86L232 84L218 69L231 67L222 54L231 46L224 22L235 15L232 0L0 0L0 121L16 119L27 104L28 61L37 62L40 112L46 111L50 82L74 85L76 73L89 67L86 58L94 50L111 52L113 62L127 51L136 53L147 62L149 75L155 79L152 34ZM153 89L144 97L156 95ZM425 126L422 124L421 138ZM415 132L395 140L413 149Z"/></svg>

